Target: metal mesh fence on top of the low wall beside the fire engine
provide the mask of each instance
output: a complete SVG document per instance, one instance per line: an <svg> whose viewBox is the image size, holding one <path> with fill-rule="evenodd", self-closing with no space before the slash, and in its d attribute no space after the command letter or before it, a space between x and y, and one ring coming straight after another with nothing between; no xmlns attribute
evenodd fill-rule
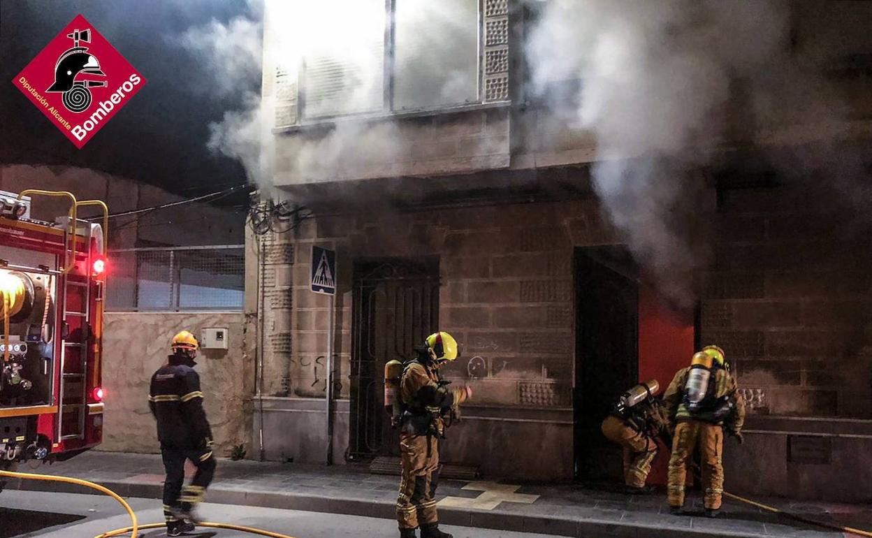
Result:
<svg viewBox="0 0 872 538"><path fill-rule="evenodd" d="M242 310L243 245L109 251L106 310Z"/></svg>

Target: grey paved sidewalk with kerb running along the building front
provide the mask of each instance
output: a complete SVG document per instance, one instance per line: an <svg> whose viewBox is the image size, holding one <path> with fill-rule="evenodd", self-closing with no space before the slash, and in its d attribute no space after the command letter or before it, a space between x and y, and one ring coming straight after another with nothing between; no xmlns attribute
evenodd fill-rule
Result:
<svg viewBox="0 0 872 538"><path fill-rule="evenodd" d="M151 499L160 499L163 480L160 456L152 454L89 452L52 466L31 470L24 465L19 470L92 480L125 497ZM393 519L398 481L371 475L359 466L220 460L206 500ZM11 480L7 489L85 493L80 487L35 480ZM688 501L691 515L680 517L667 513L663 494L627 496L576 484L513 486L444 480L438 493L439 519L448 525L579 538L843 536L728 500L719 519L706 519L695 496ZM872 507L758 501L817 521L872 529Z"/></svg>

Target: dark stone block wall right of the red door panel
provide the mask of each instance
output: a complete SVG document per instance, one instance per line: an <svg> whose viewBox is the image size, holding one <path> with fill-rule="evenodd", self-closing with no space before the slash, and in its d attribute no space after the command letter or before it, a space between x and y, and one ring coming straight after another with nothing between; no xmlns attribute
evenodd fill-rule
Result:
<svg viewBox="0 0 872 538"><path fill-rule="evenodd" d="M726 350L753 412L872 419L872 221L798 187L721 199L702 341Z"/></svg>

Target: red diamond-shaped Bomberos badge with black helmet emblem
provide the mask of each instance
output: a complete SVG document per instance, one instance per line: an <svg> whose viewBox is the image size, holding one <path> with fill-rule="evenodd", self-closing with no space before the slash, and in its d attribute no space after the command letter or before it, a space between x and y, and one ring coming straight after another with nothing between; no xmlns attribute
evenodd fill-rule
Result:
<svg viewBox="0 0 872 538"><path fill-rule="evenodd" d="M146 79L78 15L12 83L81 148Z"/></svg>

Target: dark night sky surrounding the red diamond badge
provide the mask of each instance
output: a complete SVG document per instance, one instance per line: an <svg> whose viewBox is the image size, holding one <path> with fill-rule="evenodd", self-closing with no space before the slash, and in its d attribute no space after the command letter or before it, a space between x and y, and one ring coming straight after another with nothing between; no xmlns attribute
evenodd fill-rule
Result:
<svg viewBox="0 0 872 538"><path fill-rule="evenodd" d="M191 26L249 13L244 0L0 0L0 163L89 167L182 195L241 184L241 165L206 147L208 124L240 108L208 90L208 69L173 42ZM82 149L12 84L81 13L147 79Z"/></svg>

